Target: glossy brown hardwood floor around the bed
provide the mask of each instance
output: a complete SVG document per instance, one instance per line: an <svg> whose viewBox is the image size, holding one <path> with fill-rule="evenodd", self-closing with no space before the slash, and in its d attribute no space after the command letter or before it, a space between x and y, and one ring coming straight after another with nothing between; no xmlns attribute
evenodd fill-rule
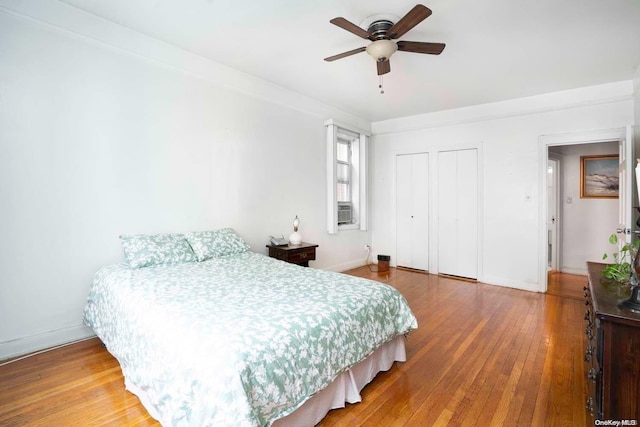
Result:
<svg viewBox="0 0 640 427"><path fill-rule="evenodd" d="M584 304L390 269L419 328L407 362L321 426L584 426ZM97 339L0 366L0 425L158 425Z"/></svg>

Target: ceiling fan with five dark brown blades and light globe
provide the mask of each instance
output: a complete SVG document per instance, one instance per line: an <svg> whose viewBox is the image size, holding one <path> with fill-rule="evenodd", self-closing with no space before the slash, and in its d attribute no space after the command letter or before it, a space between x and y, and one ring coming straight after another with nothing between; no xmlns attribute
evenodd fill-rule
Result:
<svg viewBox="0 0 640 427"><path fill-rule="evenodd" d="M388 19L378 19L373 21L367 30L347 21L342 17L333 18L333 25L349 31L363 39L371 40L367 47L359 47L348 52L339 53L337 55L325 58L325 61L335 61L336 59L345 58L364 52L365 50L371 55L377 63L378 75L382 76L391 71L389 58L397 50L403 52L426 53L429 55L439 55L444 50L444 43L427 43L427 42L409 42L409 41L393 41L402 37L407 31L424 21L431 15L431 10L421 4L416 5L403 16L398 22L393 23Z"/></svg>

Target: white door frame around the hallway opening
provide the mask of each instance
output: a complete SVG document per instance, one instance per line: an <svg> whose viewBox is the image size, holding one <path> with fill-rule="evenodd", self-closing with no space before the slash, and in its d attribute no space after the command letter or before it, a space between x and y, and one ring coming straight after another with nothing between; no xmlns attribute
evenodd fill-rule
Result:
<svg viewBox="0 0 640 427"><path fill-rule="evenodd" d="M548 221L548 194L547 194L547 167L549 147L557 145L595 144L599 142L611 142L625 140L627 128L603 129L595 131L574 132L564 134L542 135L539 141L539 180L540 193L538 224L538 291L547 291L547 221Z"/></svg>

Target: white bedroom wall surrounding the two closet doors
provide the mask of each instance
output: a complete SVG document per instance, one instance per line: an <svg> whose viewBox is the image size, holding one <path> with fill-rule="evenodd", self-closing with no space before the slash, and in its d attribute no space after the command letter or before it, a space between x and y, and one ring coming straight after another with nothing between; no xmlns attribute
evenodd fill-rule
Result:
<svg viewBox="0 0 640 427"><path fill-rule="evenodd" d="M479 280L540 290L539 137L632 124L632 92L631 82L621 82L373 123L374 251L391 254L393 263L395 155L475 146L481 163ZM432 175L432 188L436 180ZM433 230L430 271L437 272Z"/></svg>

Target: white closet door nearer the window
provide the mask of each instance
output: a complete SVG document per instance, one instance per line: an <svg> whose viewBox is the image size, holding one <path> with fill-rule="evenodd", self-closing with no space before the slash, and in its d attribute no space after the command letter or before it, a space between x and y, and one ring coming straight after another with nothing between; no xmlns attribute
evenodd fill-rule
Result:
<svg viewBox="0 0 640 427"><path fill-rule="evenodd" d="M396 264L429 269L429 157L396 157Z"/></svg>

